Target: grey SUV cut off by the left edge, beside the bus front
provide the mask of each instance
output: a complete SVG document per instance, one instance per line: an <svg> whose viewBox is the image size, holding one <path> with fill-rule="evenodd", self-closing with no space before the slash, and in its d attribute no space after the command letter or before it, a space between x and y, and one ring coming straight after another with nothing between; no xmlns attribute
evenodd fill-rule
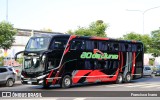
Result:
<svg viewBox="0 0 160 100"><path fill-rule="evenodd" d="M11 66L0 66L0 84L8 87L14 85L16 80L16 71Z"/></svg>

